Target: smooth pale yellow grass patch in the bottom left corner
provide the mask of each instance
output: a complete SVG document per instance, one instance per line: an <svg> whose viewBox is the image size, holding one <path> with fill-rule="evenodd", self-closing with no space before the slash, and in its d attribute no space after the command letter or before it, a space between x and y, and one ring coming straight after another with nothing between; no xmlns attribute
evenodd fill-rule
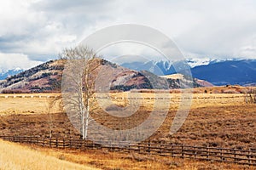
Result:
<svg viewBox="0 0 256 170"><path fill-rule="evenodd" d="M4 170L96 169L95 167L64 161L26 146L3 142L3 140L0 140L0 150L0 169Z"/></svg>

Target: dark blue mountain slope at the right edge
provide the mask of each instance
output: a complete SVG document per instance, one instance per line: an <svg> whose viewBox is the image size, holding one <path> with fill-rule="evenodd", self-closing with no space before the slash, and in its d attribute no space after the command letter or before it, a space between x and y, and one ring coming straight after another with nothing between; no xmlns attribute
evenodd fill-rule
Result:
<svg viewBox="0 0 256 170"><path fill-rule="evenodd" d="M256 82L256 59L225 60L191 69L193 77L214 85L247 85Z"/></svg>

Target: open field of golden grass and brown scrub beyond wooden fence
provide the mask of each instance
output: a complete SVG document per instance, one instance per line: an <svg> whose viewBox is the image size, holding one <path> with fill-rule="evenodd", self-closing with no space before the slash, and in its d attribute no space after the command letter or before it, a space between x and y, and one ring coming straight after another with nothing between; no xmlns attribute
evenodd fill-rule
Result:
<svg viewBox="0 0 256 170"><path fill-rule="evenodd" d="M43 95L48 96L49 94ZM127 102L121 98L127 94L112 95L116 95L112 96L114 104L125 105ZM141 95L144 98L141 99L143 105L133 117L117 119L100 109L97 110L101 114L95 116L96 121L113 129L135 127L138 123L143 122L154 108L154 94ZM158 105L159 108L154 108L168 109L169 111L166 121L150 140L173 144L256 149L256 105L245 104L243 94L194 94L186 122L173 135L170 135L169 131L177 111L180 94L165 94L165 96L168 95L171 96L171 99L168 100L170 105L167 105L169 108L164 108L166 104L161 104L161 102ZM0 132L3 135L23 136L49 136L49 133L52 132L53 136L60 138L79 138L79 132L69 122L67 115L58 111L57 106L53 111L55 113L46 114L49 111L49 99L44 97L7 99L0 97ZM109 99L105 100L109 101Z"/></svg>

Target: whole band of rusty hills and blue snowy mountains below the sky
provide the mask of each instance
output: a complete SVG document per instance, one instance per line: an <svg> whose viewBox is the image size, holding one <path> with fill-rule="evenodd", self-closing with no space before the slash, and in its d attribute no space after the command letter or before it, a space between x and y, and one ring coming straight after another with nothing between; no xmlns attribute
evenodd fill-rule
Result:
<svg viewBox="0 0 256 170"><path fill-rule="evenodd" d="M132 88L166 88L164 86L165 81L169 83L168 88L181 88L181 84L185 87L188 82L187 77L168 77L168 75L176 74L177 71L175 71L170 63L164 61L154 63L133 62L116 65L106 60L103 62L103 60L102 65L106 67L105 69L109 67L114 70L115 80L111 82L112 85L110 87L112 90L126 91ZM192 82L189 80L189 83L192 83L194 87L227 84L238 84L241 86L256 85L256 59L224 61L190 59L188 63L191 67L196 65L191 68L192 76L196 78ZM63 61L52 60L27 71L20 69L0 71L0 91L7 89L21 90L22 92L29 93L60 91L63 69ZM111 76L113 77L113 75ZM160 77L166 75L167 77ZM151 84L149 80L151 80Z"/></svg>

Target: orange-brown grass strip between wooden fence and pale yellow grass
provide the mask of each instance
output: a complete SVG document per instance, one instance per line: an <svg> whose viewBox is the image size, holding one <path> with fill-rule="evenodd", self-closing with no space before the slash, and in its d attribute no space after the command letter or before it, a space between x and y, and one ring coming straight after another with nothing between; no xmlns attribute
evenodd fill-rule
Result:
<svg viewBox="0 0 256 170"><path fill-rule="evenodd" d="M58 150L34 146L38 151L48 156L71 161L81 165L104 170L119 169L253 169L253 167L212 161L195 161L163 156L140 155L136 153L117 153L107 150Z"/></svg>

